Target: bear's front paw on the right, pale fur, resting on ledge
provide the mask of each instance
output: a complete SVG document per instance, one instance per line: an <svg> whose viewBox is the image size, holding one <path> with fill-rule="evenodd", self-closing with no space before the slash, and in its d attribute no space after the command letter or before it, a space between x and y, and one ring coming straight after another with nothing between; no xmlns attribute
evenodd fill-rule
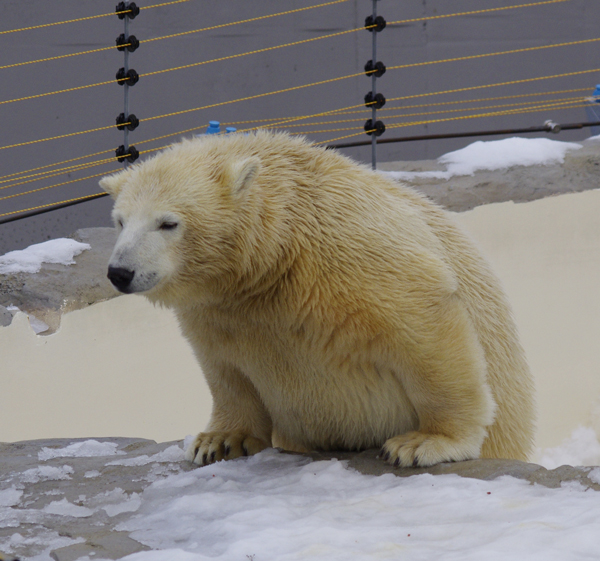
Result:
<svg viewBox="0 0 600 561"><path fill-rule="evenodd" d="M461 462L479 457L481 442L471 443L441 434L407 432L390 438L379 457L396 467L427 467L441 462Z"/></svg>

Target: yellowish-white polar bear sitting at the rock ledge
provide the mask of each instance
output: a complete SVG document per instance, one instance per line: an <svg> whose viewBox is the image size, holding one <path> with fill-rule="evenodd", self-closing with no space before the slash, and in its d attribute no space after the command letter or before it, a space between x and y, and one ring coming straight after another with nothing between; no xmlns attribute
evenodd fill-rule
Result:
<svg viewBox="0 0 600 561"><path fill-rule="evenodd" d="M174 309L212 393L189 460L527 458L533 384L509 305L425 197L270 132L184 140L100 185L119 231L108 277Z"/></svg>

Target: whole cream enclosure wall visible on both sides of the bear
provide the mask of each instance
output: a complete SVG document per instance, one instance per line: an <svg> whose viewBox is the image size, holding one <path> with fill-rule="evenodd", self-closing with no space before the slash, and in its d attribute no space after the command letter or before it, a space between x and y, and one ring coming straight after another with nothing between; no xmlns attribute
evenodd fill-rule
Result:
<svg viewBox="0 0 600 561"><path fill-rule="evenodd" d="M600 191L457 214L513 304L538 390L537 445L578 425L600 434ZM204 428L210 395L172 314L121 296L37 336L0 328L0 441L135 436Z"/></svg>

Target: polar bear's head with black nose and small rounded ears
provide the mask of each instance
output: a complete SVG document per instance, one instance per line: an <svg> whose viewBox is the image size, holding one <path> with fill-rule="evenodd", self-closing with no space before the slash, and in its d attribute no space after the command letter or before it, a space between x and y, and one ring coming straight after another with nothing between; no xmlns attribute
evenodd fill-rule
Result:
<svg viewBox="0 0 600 561"><path fill-rule="evenodd" d="M175 303L187 289L224 282L240 261L260 160L216 161L201 145L174 145L100 181L115 200L118 238L108 278L121 292Z"/></svg>

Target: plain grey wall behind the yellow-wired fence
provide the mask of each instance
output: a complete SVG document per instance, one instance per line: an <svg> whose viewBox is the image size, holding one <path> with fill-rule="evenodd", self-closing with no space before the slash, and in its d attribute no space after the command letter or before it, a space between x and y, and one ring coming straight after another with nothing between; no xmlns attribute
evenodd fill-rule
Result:
<svg viewBox="0 0 600 561"><path fill-rule="evenodd" d="M138 5L154 3L158 3L158 0L157 2L140 0ZM314 2L191 0L182 4L143 10L131 23L130 32L143 40L316 3L317 0ZM485 3L475 0L455 0L451 3L443 0L403 0L402 2L382 0L378 6L379 13L388 21L399 21L518 3L509 0L488 0ZM110 2L4 0L0 3L0 31L109 13L114 10L115 4L114 0ZM370 11L371 2L368 0L349 0L327 8L146 43L131 55L131 65L139 73L147 73L291 41L310 39L361 26ZM597 25L599 20L600 4L597 1L569 0L540 7L431 20L427 23L390 25L379 35L377 58L388 66L393 66L590 39L600 36L600 28ZM109 46L114 44L115 37L122 30L121 20L111 16L39 30L0 34L0 49L3 54L0 66ZM221 63L142 77L140 82L131 89L131 111L143 119L345 76L362 71L364 63L370 58L370 49L371 34L361 31ZM600 66L598 53L600 53L600 43L588 43L394 70L389 71L378 81L378 89L386 97L391 98L589 70ZM121 53L104 51L0 69L0 101L112 80L116 70L122 66L122 60ZM429 107L404 110L414 113L434 111L441 108L439 103L442 101L460 99L511 96L572 88L589 88L591 94L596 82L600 82L600 76L597 73L590 73L571 78L526 82L512 86L390 102L387 107L400 109L417 103L431 103ZM369 90L370 80L358 76L296 92L143 122L136 131L131 133L131 140L138 148L159 147L172 139L141 145L138 143L193 127L202 130L210 119L235 122L270 117L285 118L356 105L361 103L364 94ZM550 97L567 95L577 94ZM482 102L480 105L514 101L519 100ZM0 147L111 125L118 113L122 111L122 106L123 90L114 83L70 93L2 103L0 104ZM386 113L388 117L385 121L388 124L401 120L389 117L398 112ZM386 115L386 113L382 114ZM439 117L452 115L454 114L439 115ZM344 118L360 120L355 123L341 123L338 126L360 127L367 117L366 111L359 115L346 115ZM408 117L405 120L415 118L431 119L436 118L436 115ZM581 108L548 110L524 115L411 126L390 130L386 136L532 126L541 124L546 119L576 122L585 120L585 114ZM335 125L315 125L306 129L290 130L314 131L332 127L335 128ZM352 132L331 131L309 136L317 141L326 141ZM579 140L588 135L587 131L578 131L561 133L558 138ZM430 159L469 142L471 140L459 139L391 144L379 148L379 157L382 161ZM94 152L111 150L121 143L122 134L113 129L28 146L0 149L0 176L2 176L0 181L8 174ZM368 161L370 158L368 148L352 148L345 152L362 161ZM92 160L110 155L97 156ZM0 190L0 214L96 193L99 188L97 178L93 178L25 196L1 199L15 193L39 189L79 177L109 172L118 167L117 164L96 166L82 172L67 173ZM7 185L10 183L0 183L0 187ZM104 198L0 225L0 254L45 239L67 235L77 228L109 225L110 208L111 202Z"/></svg>

